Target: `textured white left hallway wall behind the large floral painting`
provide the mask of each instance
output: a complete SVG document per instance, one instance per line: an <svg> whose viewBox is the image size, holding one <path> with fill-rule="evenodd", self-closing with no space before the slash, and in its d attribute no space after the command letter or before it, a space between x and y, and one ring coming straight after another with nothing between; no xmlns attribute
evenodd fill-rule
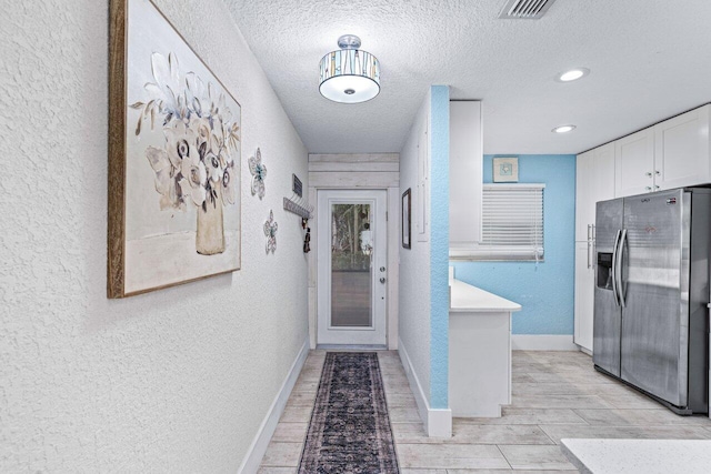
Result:
<svg viewBox="0 0 711 474"><path fill-rule="evenodd" d="M107 300L108 2L6 9L0 472L236 472L307 340L307 151L220 0L158 3L242 105L242 270Z"/></svg>

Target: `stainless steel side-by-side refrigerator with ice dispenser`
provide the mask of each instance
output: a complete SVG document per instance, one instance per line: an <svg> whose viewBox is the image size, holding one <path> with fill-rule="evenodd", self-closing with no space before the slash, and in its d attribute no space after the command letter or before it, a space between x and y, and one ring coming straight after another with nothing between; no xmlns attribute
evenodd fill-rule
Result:
<svg viewBox="0 0 711 474"><path fill-rule="evenodd" d="M597 204L595 369L708 413L711 190Z"/></svg>

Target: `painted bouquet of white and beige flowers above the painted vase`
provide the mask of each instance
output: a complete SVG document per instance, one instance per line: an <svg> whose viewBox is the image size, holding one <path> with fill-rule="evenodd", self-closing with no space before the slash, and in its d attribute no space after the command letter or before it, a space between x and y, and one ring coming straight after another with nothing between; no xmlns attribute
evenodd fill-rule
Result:
<svg viewBox="0 0 711 474"><path fill-rule="evenodd" d="M154 82L148 82L147 102L130 107L140 110L136 135L143 122L153 131L162 129L163 148L148 147L146 158L156 172L156 191L161 209L184 210L194 204L234 204L234 161L240 130L226 104L224 92L207 87L194 72L181 74L178 57L151 54ZM157 123L158 122L158 123ZM221 190L221 192L219 192Z"/></svg>

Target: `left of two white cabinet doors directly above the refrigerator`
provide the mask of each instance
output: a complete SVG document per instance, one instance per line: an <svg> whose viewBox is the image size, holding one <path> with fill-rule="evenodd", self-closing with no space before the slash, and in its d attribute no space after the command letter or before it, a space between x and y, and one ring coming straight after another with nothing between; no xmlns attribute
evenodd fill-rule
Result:
<svg viewBox="0 0 711 474"><path fill-rule="evenodd" d="M640 130L614 142L614 195L654 190L654 130Z"/></svg>

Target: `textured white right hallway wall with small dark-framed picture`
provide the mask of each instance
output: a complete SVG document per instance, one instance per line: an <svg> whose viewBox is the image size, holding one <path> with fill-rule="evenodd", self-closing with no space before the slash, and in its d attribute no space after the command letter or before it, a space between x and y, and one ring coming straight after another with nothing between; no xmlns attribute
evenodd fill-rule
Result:
<svg viewBox="0 0 711 474"><path fill-rule="evenodd" d="M399 334L424 395L430 401L430 242L419 242L418 205L418 139L430 115L430 92L410 129L400 152L400 194L411 188L412 242L411 249L400 248L400 309ZM429 137L429 135L428 135ZM422 140L427 145L427 142Z"/></svg>

